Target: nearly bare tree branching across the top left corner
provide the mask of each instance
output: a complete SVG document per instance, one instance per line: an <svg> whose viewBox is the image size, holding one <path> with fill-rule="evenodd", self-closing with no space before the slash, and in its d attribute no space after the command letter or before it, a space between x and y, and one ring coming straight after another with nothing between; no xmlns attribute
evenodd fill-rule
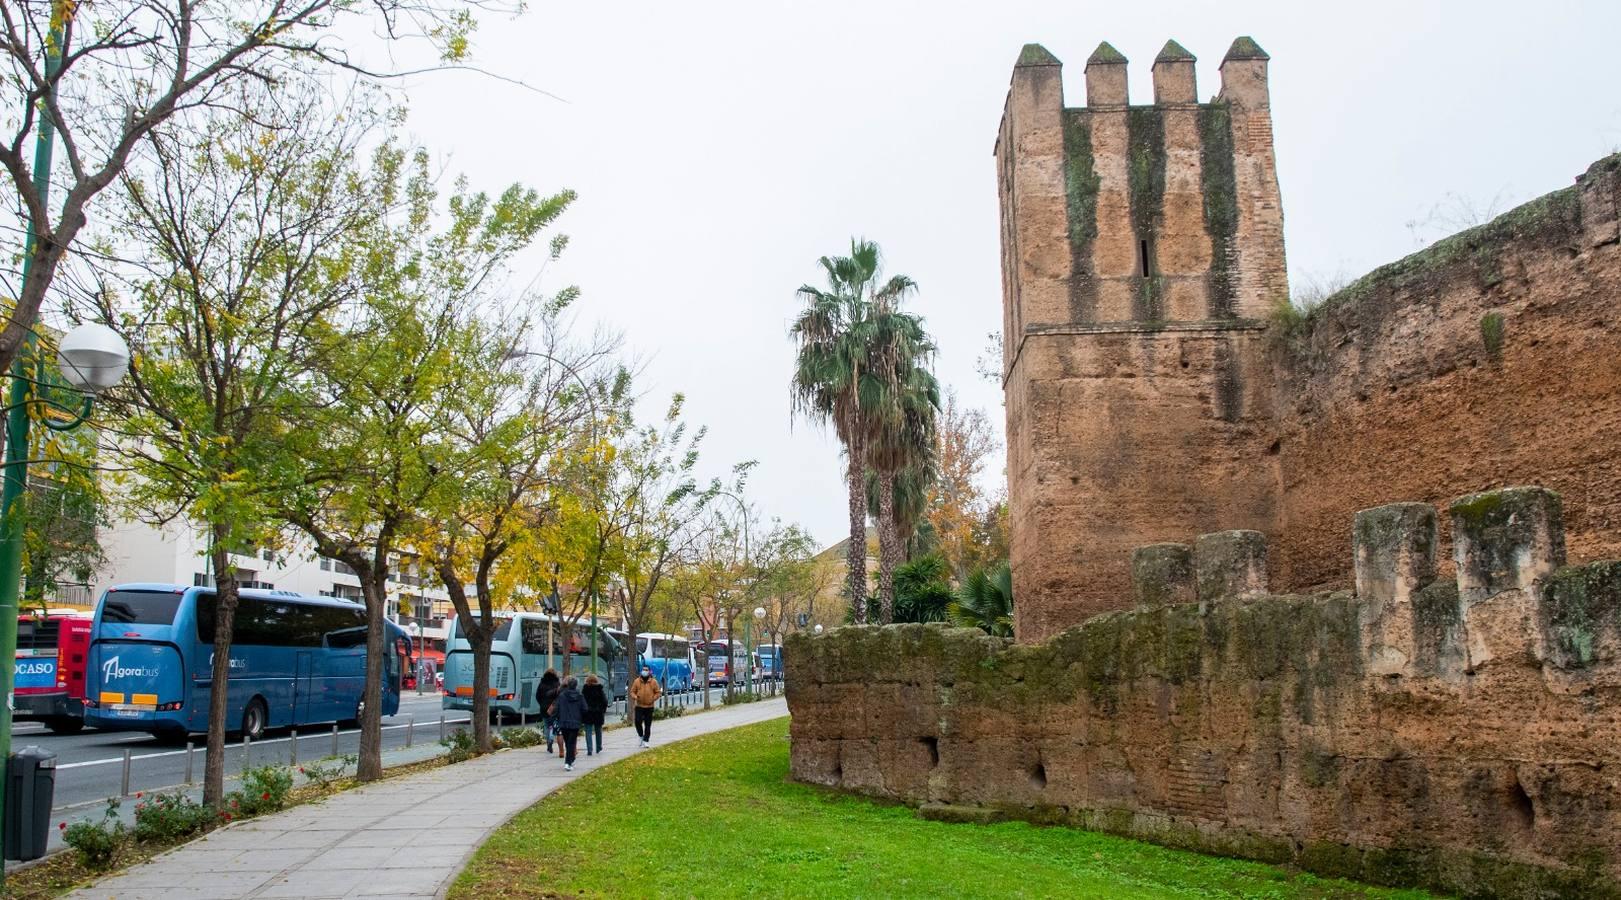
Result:
<svg viewBox="0 0 1621 900"><path fill-rule="evenodd" d="M10 370L70 250L89 222L91 203L148 151L169 125L196 128L190 115L242 122L259 117L258 96L285 89L289 76L342 66L365 76L339 34L366 23L391 41L425 41L444 65L468 54L464 0L8 0L0 16L0 170L6 209L32 232L28 277L0 329L0 370ZM52 58L47 60L47 55ZM13 110L18 110L13 114ZM190 120L190 122L183 122ZM261 120L263 122L263 120ZM34 141L50 128L60 149L50 182L53 206L31 167ZM173 141L170 141L173 144Z"/></svg>

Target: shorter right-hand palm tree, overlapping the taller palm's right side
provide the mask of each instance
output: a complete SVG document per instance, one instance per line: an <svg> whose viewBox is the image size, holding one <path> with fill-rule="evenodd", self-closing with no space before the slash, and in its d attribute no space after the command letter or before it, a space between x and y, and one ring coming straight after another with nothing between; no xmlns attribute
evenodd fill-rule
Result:
<svg viewBox="0 0 1621 900"><path fill-rule="evenodd" d="M895 313L905 316L905 313ZM916 316L914 337L905 349L929 352L927 339ZM935 412L940 409L940 384L916 360L900 360L903 371L882 394L869 438L867 464L874 472L874 499L879 521L879 616L883 624L895 621L895 568L906 555L913 530L927 506L934 482Z"/></svg>

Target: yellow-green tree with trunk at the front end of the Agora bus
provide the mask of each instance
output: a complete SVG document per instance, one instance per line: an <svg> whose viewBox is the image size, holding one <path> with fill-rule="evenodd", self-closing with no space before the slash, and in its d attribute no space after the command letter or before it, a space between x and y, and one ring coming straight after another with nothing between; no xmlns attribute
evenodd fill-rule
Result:
<svg viewBox="0 0 1621 900"><path fill-rule="evenodd" d="M319 402L295 443L306 486L285 495L280 506L280 516L321 555L342 559L360 579L368 619L365 701L357 710L361 780L383 774L379 701L391 559L420 543L425 506L447 483L451 467L465 461L459 448L439 439L443 426L472 397L501 386L493 373L511 342L493 341L478 316L511 259L574 199L572 191L541 196L522 185L490 196L457 182L441 224L425 151L407 154L389 144L374 154L373 167L374 203L389 214L358 234L358 251L349 259L361 302L332 331L336 358L311 383ZM564 245L554 240L553 253ZM477 639L480 624L465 597L457 613L464 632Z"/></svg>

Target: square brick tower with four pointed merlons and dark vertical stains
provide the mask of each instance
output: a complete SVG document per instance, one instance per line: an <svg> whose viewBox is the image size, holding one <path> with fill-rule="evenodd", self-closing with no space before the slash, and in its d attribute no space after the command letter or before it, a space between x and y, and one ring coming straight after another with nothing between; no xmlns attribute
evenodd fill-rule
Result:
<svg viewBox="0 0 1621 900"><path fill-rule="evenodd" d="M1131 105L1099 44L1080 109L1044 47L1013 68L995 157L1020 641L1130 605L1135 546L1272 530L1260 332L1289 285L1266 66L1234 41L1201 104L1170 41Z"/></svg>

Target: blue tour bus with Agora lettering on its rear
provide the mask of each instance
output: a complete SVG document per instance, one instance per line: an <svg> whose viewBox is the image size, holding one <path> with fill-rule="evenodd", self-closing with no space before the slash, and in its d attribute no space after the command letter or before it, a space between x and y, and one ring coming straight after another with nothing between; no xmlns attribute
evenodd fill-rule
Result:
<svg viewBox="0 0 1621 900"><path fill-rule="evenodd" d="M207 731L214 602L212 587L107 590L91 624L86 725L162 736ZM383 715L394 715L410 644L397 624L384 628ZM358 720L365 681L365 606L285 590L240 592L230 644L230 726L258 738L266 728Z"/></svg>

